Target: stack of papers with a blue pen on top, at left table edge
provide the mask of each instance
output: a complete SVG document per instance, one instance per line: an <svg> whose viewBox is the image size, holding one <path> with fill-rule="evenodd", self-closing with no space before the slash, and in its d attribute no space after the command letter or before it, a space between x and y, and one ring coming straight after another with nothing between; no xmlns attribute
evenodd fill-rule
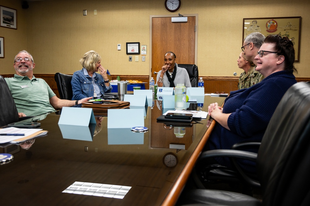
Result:
<svg viewBox="0 0 310 206"><path fill-rule="evenodd" d="M1 143L20 143L25 142L29 139L40 137L47 134L48 131L43 129L25 129L25 128L16 128L8 127L0 129L0 134L24 134L23 136L15 135L0 135L0 144Z"/></svg>

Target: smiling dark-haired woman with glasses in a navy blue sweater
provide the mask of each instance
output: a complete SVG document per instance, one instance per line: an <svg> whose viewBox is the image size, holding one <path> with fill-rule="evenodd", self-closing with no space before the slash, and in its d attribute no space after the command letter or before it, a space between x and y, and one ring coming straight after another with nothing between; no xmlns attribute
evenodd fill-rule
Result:
<svg viewBox="0 0 310 206"><path fill-rule="evenodd" d="M208 149L230 149L237 142L261 141L282 96L296 83L294 46L287 37L267 36L255 59L255 69L265 79L247 89L232 91L224 107L218 103L208 106L209 115L219 123L207 142ZM228 158L216 161L231 166ZM242 160L240 164L247 172L255 171L251 161Z"/></svg>

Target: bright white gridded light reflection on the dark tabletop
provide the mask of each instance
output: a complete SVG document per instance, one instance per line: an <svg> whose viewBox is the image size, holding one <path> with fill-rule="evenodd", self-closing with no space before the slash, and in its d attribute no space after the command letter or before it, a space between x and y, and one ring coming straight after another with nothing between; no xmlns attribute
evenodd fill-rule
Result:
<svg viewBox="0 0 310 206"><path fill-rule="evenodd" d="M123 199L130 189L130 186L74 182L62 192Z"/></svg>

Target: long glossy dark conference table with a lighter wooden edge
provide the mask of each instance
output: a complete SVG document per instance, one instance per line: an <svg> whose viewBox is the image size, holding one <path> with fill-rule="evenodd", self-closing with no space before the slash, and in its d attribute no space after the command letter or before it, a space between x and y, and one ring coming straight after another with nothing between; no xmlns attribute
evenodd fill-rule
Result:
<svg viewBox="0 0 310 206"><path fill-rule="evenodd" d="M205 96L203 111L210 103L221 105L224 100ZM58 111L35 117L41 129L48 130L46 136L36 138L27 149L0 145L3 150L15 148L14 159L0 165L0 204L174 205L215 121L208 116L183 127L185 135L177 138L174 127L178 125L156 120L164 109L157 100L153 108L147 107L144 126L148 131L137 133L135 141L130 129L107 129L109 117L85 140L62 135Z"/></svg>

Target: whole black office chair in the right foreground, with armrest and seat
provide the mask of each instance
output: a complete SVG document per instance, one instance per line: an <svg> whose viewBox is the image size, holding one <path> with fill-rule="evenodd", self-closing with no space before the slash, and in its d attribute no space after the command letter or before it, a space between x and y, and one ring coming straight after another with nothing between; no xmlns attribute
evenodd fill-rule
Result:
<svg viewBox="0 0 310 206"><path fill-rule="evenodd" d="M310 85L299 82L285 93L263 136L258 154L238 150L210 150L206 157L256 160L263 201L228 191L191 190L179 204L266 205L310 204ZM242 173L242 172L241 172Z"/></svg>

